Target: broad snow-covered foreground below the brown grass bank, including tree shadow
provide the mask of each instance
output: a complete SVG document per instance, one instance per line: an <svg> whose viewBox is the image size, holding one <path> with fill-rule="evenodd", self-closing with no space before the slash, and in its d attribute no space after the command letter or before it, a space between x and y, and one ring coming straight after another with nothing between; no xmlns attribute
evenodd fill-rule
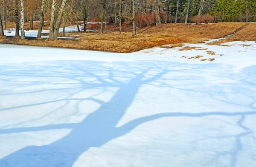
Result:
<svg viewBox="0 0 256 167"><path fill-rule="evenodd" d="M256 43L227 45L0 44L0 167L255 167Z"/></svg>

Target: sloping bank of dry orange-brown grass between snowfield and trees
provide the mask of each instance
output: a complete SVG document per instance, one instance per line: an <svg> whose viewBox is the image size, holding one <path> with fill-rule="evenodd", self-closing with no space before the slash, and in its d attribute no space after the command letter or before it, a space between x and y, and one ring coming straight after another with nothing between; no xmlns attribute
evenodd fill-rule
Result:
<svg viewBox="0 0 256 167"><path fill-rule="evenodd" d="M35 28L36 24L37 22L34 23ZM0 37L0 43L128 53L162 45L180 47L181 43L200 43L209 39L224 37L235 31L239 35L230 37L233 40L240 40L240 38L242 40L256 40L256 33L254 33L256 24L253 23L165 24L161 27L152 26L138 29L135 37L132 37L131 25L124 26L121 35L117 31L118 27L108 25L108 28L108 34L99 33L99 31L66 33L69 37L78 37L80 40L66 39L58 40L57 42L47 39L30 38L23 41L15 37ZM237 31L239 28L241 30ZM244 29L247 31L244 31ZM251 30L251 32L248 30ZM240 33L244 34L245 32L249 32L250 35L245 37L240 35ZM176 46L173 44L176 44ZM186 50L190 49L195 48L186 48Z"/></svg>

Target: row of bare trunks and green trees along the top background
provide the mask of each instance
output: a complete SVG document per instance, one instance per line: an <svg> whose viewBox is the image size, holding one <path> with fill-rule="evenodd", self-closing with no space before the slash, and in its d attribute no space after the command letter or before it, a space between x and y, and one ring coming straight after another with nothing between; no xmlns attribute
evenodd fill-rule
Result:
<svg viewBox="0 0 256 167"><path fill-rule="evenodd" d="M255 16L253 0L0 0L0 36L8 22L15 22L15 36L21 34L25 39L25 21L30 22L31 29L35 20L40 21L38 38L48 21L49 40L56 40L61 23L66 22L76 24L78 31L87 31L87 23L96 22L105 33L107 23L113 23L119 26L120 34L124 23L131 24L136 35L136 28L149 25L205 20L254 22ZM83 21L83 30L79 21Z"/></svg>

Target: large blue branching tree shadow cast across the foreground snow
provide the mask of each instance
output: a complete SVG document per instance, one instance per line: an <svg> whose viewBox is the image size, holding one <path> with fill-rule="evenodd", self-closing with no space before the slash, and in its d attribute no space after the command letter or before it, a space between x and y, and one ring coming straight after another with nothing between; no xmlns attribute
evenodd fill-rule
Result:
<svg viewBox="0 0 256 167"><path fill-rule="evenodd" d="M34 63L32 63L34 64ZM58 84L65 84L65 81L74 81L70 83L70 87L67 88L49 88L45 90L37 90L31 92L20 92L14 93L16 95L23 93L41 93L43 91L70 91L70 93L65 98L55 99L50 101L38 102L28 105L20 105L11 108L0 109L12 110L18 108L27 108L31 106L40 106L42 104L55 103L55 102L68 102L76 101L78 105L79 102L89 100L98 103L101 107L95 110L93 113L88 114L79 123L65 123L57 125L44 125L41 127L20 127L11 129L0 129L0 134L9 133L20 133L20 132L33 132L41 130L56 130L56 129L70 129L70 133L63 138L52 142L48 145L43 146L28 146L17 150L3 159L0 160L0 167L72 167L79 156L88 150L90 147L101 147L103 144L110 142L120 136L129 133L134 130L137 126L149 122L155 119L163 117L178 117L178 116L188 116L188 117L204 117L204 116L241 116L238 125L246 130L246 133L239 134L236 136L237 143L239 144L239 137L247 135L249 131L242 125L242 122L247 115L255 115L255 110L248 112L205 112L205 113L158 113L151 116L145 116L142 118L134 119L120 127L117 127L118 122L125 115L126 110L134 101L139 89L143 85L155 84L158 87L170 87L166 80L163 79L165 74L173 71L186 71L197 69L197 65L187 65L182 69L169 69L166 68L168 65L166 62L161 64L161 62L143 62L143 63L128 63L123 64L122 62L116 62L114 65L116 67L109 67L103 65L103 62L88 62L88 61L60 61L60 62L49 62L49 65L27 65L27 68L23 70L17 67L16 71L6 71L6 73L1 74L1 76L9 76L5 80L2 77L3 82L14 82L21 77L39 77L39 78L61 78ZM132 65L131 65L132 64ZM25 65L26 66L26 65ZM120 66L120 68L118 67ZM129 69L125 69L128 67ZM122 68L122 70L121 70ZM208 66L211 68L211 66ZM48 73L47 73L48 72ZM46 75L48 74L48 75ZM14 77L14 79L12 78ZM17 77L17 78L15 78ZM87 81L86 78L93 78ZM200 80L200 76L197 76ZM13 80L12 80L13 79ZM182 78L180 78L182 79ZM186 78L185 78L186 79ZM202 78L203 79L203 78ZM50 81L31 81L30 85L40 85L40 84L52 84ZM24 86L26 83L23 83ZM250 83L253 84L253 83ZM255 84L255 83L254 83ZM118 88L115 94L108 102L104 102L95 97L86 98L74 98L76 93L80 93L87 89L93 88L105 88L112 87ZM5 92L9 94L10 92ZM2 93L4 95L5 93ZM60 106L64 108L67 105ZM75 110L76 107L74 107ZM55 112L55 110L52 110ZM52 113L51 112L51 113ZM48 113L49 114L49 113ZM47 116L44 115L42 117ZM41 118L42 118L41 117ZM38 118L38 119L41 119ZM31 120L36 121L36 120ZM19 125L22 125L20 123ZM234 153L233 160L230 163L230 167L236 166L236 155Z"/></svg>

